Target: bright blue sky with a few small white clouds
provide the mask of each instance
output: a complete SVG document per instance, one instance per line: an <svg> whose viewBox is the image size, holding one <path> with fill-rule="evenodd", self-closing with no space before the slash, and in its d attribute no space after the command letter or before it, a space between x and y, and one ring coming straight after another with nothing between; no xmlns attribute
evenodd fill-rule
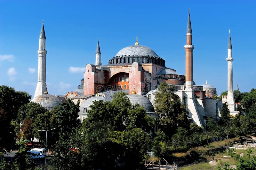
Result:
<svg viewBox="0 0 256 170"><path fill-rule="evenodd" d="M71 3L72 2L72 3ZM0 0L0 85L34 95L38 38L44 20L49 94L76 89L100 39L103 65L122 48L152 48L185 75L188 8L193 32L194 81L227 90L228 30L234 89L255 88L255 1L12 1ZM79 67L77 72L70 67ZM81 69L82 68L82 69ZM76 70L75 70L76 71Z"/></svg>

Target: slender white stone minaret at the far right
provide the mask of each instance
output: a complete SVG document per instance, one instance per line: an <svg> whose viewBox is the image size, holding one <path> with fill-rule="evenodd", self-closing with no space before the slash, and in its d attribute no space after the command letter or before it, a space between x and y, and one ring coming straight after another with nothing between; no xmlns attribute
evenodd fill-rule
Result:
<svg viewBox="0 0 256 170"><path fill-rule="evenodd" d="M234 112L236 110L235 97L233 93L233 57L232 57L232 45L231 45L231 37L229 30L229 40L228 40L228 57L226 58L228 61L228 96L227 96L227 104L230 112Z"/></svg>

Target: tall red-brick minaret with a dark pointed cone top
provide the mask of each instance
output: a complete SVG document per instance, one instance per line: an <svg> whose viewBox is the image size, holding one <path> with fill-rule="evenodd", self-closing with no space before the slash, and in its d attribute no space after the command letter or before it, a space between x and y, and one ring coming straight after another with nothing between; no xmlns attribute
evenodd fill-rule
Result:
<svg viewBox="0 0 256 170"><path fill-rule="evenodd" d="M189 98L194 97L193 89L193 49L192 45L192 29L190 23L190 15L188 9L188 26L187 26L187 44L184 46L186 51L186 89L185 92Z"/></svg>

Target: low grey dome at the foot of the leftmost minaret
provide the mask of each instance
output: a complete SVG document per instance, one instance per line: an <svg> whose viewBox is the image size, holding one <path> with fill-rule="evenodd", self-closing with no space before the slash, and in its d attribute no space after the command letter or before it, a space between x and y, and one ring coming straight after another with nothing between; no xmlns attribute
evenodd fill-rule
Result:
<svg viewBox="0 0 256 170"><path fill-rule="evenodd" d="M60 99L49 94L42 94L34 97L30 102L35 102L51 111L54 107L59 106Z"/></svg>

